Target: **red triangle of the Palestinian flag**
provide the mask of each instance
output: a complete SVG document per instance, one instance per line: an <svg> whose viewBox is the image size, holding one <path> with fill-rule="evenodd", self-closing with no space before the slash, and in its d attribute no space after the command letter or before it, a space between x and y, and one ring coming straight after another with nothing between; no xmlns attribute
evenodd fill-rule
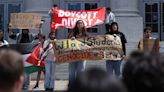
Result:
<svg viewBox="0 0 164 92"><path fill-rule="evenodd" d="M26 61L30 64L44 67L44 62L39 59L40 57L40 47L42 46L42 43L38 44L34 51L31 53L31 55L26 59ZM39 62L40 61L40 62Z"/></svg>

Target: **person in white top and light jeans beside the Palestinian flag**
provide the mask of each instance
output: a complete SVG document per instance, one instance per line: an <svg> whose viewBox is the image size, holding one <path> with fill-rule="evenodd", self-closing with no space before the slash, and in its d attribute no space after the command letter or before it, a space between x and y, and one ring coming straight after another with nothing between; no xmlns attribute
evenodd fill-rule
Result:
<svg viewBox="0 0 164 92"><path fill-rule="evenodd" d="M55 81L55 55L53 51L53 44L55 42L55 32L49 33L49 39L43 43L43 50L41 59L45 61L45 90L53 91L54 90L54 81ZM44 59L45 58L45 59Z"/></svg>

